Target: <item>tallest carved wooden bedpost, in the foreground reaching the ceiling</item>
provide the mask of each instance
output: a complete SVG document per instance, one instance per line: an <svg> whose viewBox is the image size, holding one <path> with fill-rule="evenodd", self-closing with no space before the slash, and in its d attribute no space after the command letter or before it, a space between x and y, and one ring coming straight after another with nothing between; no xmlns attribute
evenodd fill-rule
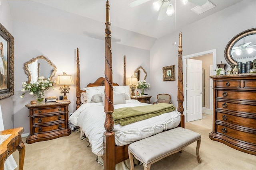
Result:
<svg viewBox="0 0 256 170"><path fill-rule="evenodd" d="M112 79L112 52L111 52L111 29L110 29L110 15L109 2L106 2L106 29L105 29L105 105L104 111L106 119L104 123L104 170L115 169L115 134L114 121L112 113L114 111L113 105L113 79Z"/></svg>

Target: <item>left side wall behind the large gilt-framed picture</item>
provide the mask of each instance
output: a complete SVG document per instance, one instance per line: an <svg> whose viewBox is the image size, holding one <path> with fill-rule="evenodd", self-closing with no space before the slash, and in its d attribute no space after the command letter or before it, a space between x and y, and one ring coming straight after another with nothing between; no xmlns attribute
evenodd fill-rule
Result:
<svg viewBox="0 0 256 170"><path fill-rule="evenodd" d="M12 17L10 14L10 8L8 6L7 0L1 0L0 23L13 35ZM14 41L15 41L15 38L14 38ZM15 56L14 56L14 59L15 59ZM13 128L14 127L13 96L0 100L0 105L2 107L2 117L4 120L4 129Z"/></svg>

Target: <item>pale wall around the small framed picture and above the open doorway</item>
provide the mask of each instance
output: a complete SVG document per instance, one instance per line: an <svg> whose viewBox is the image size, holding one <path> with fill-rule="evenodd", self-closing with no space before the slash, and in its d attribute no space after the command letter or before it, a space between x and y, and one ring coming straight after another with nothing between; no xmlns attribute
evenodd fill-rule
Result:
<svg viewBox="0 0 256 170"><path fill-rule="evenodd" d="M192 23L176 33L162 37L150 50L150 94L152 101L160 93L171 94L177 102L178 36L182 32L183 56L216 49L216 63L225 62L224 50L238 33L256 27L256 1L244 0L216 14ZM178 20L178 18L177 18ZM172 45L176 36L177 46ZM162 67L175 65L176 80L164 82ZM226 67L228 68L228 66Z"/></svg>

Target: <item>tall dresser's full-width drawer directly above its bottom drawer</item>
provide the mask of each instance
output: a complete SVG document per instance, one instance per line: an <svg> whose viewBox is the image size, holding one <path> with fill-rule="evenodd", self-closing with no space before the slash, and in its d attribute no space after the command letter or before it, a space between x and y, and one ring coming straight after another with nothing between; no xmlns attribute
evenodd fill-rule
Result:
<svg viewBox="0 0 256 170"><path fill-rule="evenodd" d="M228 113L220 113L218 111L216 114L217 114L216 121L223 121L227 123L232 123L234 125L256 129L256 115L255 115L255 118L248 118L248 117L230 115Z"/></svg>

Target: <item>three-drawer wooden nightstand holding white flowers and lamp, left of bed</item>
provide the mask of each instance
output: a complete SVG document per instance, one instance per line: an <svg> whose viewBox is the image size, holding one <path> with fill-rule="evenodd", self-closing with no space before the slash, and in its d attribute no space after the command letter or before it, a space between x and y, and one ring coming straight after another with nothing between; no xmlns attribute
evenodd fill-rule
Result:
<svg viewBox="0 0 256 170"><path fill-rule="evenodd" d="M27 104L30 110L30 134L26 143L47 141L62 136L68 136L68 105L70 102L48 102Z"/></svg>

